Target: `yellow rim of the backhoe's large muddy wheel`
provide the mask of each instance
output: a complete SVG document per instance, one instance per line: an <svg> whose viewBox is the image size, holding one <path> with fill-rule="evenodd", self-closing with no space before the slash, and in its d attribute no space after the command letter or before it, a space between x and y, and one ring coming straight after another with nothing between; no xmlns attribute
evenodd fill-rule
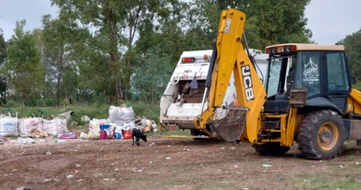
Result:
<svg viewBox="0 0 361 190"><path fill-rule="evenodd" d="M318 130L318 144L323 150L331 150L338 141L338 130L332 122L325 122Z"/></svg>

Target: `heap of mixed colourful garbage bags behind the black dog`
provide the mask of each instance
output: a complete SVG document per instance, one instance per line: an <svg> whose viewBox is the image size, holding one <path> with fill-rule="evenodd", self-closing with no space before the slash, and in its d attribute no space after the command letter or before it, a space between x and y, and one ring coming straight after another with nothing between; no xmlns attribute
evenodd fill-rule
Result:
<svg viewBox="0 0 361 190"><path fill-rule="evenodd" d="M145 117L135 117L133 108L125 104L110 106L109 118L93 118L89 121L89 132L80 133L80 138L89 140L98 139L129 139L133 128L143 132L157 132L157 125L153 120Z"/></svg>

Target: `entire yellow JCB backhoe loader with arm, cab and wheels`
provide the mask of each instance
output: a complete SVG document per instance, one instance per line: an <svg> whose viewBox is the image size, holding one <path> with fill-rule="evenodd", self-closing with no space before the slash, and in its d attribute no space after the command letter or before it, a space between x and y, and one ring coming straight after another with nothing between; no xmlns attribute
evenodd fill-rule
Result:
<svg viewBox="0 0 361 190"><path fill-rule="evenodd" d="M250 142L263 155L284 154L296 141L307 158L332 159L344 140L361 145L361 92L351 88L344 46L268 46L263 85L246 52L245 21L236 9L221 14L196 129ZM224 105L232 72L237 101Z"/></svg>

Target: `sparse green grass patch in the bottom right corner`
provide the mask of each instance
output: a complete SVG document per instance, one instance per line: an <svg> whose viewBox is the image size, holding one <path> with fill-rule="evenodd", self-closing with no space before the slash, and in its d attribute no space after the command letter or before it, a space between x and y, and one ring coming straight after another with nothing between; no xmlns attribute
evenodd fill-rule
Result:
<svg viewBox="0 0 361 190"><path fill-rule="evenodd" d="M355 177L329 176L324 173L303 174L302 178L293 182L293 186L303 190L328 190L328 189L348 189L358 190L361 183Z"/></svg>

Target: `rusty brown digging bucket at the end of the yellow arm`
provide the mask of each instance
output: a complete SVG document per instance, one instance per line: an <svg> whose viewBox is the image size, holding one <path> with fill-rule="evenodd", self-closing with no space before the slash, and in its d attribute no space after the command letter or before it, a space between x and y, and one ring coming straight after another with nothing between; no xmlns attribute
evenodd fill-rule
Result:
<svg viewBox="0 0 361 190"><path fill-rule="evenodd" d="M211 130L216 131L217 135L226 141L240 139L248 111L247 107L231 106L224 118L211 121Z"/></svg>

